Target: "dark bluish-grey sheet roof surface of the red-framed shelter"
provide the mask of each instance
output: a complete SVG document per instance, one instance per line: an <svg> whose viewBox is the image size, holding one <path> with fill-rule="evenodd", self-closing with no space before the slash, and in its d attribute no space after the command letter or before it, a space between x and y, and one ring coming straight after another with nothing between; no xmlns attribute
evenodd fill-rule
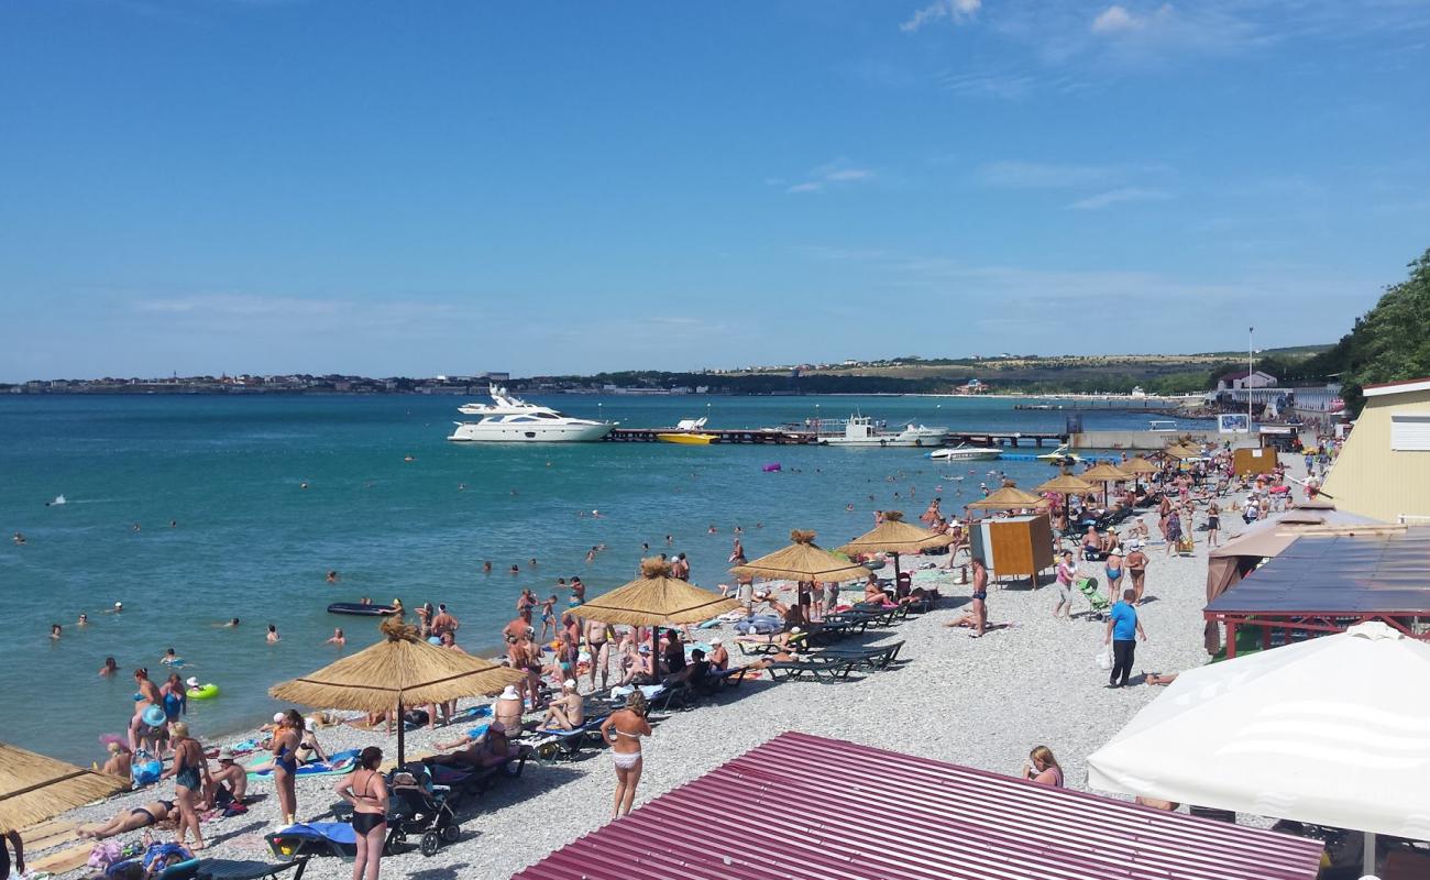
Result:
<svg viewBox="0 0 1430 880"><path fill-rule="evenodd" d="M1208 614L1427 614L1430 528L1301 535L1207 605Z"/></svg>

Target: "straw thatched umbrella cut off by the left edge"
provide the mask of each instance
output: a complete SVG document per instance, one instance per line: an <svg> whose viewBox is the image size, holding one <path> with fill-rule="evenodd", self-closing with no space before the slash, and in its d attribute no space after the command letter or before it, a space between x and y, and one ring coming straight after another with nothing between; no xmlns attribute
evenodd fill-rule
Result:
<svg viewBox="0 0 1430 880"><path fill-rule="evenodd" d="M0 743L0 831L19 831L123 787L117 777Z"/></svg>

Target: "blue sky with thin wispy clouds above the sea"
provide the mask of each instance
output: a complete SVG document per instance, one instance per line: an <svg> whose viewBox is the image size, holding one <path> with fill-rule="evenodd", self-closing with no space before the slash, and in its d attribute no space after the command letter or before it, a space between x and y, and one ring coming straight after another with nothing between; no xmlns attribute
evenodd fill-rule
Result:
<svg viewBox="0 0 1430 880"><path fill-rule="evenodd" d="M1411 0L0 0L0 379L1330 342Z"/></svg>

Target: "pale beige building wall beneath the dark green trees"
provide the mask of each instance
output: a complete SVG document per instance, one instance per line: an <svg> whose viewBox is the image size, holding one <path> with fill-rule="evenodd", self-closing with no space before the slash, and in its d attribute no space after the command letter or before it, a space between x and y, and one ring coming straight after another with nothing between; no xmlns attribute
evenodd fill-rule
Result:
<svg viewBox="0 0 1430 880"><path fill-rule="evenodd" d="M1323 487L1336 509L1384 522L1401 514L1430 518L1430 452L1390 448L1390 416L1407 412L1430 414L1430 391L1366 399Z"/></svg>

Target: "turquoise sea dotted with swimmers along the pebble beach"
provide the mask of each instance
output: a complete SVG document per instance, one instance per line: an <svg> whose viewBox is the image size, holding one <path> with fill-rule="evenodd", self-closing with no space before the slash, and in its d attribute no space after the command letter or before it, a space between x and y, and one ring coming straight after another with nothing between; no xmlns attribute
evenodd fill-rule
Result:
<svg viewBox="0 0 1430 880"><path fill-rule="evenodd" d="M533 399L628 426L708 414L711 426L744 428L855 409L891 425L1058 431L1064 422L1061 412L967 398ZM728 580L735 525L749 558L784 547L791 528L835 547L871 528L875 508L914 519L940 489L945 508L977 498L991 468L1024 487L1048 475L1041 462L934 465L917 449L449 444L460 402L0 398L0 741L84 764L100 757L97 737L127 723L130 671L147 665L162 678L169 647L186 660L182 674L222 688L216 700L190 701L199 735L253 724L273 711L269 685L337 655L325 644L335 627L346 630L347 651L375 640L372 621L326 614L332 601L445 601L462 621L459 641L485 648L522 587L545 597L558 577L581 575L598 595L635 574L642 542L684 551L692 580L716 587ZM1141 428L1147 416L1090 414L1084 424ZM785 469L766 474L769 462ZM46 507L59 495L66 504ZM10 539L17 531L24 547ZM598 544L608 549L588 564ZM512 564L521 574L508 574ZM326 582L329 569L337 584ZM124 611L104 614L116 601ZM74 625L82 611L86 628ZM216 628L232 617L239 628ZM51 622L64 628L57 641ZM276 645L265 641L270 622ZM122 674L96 674L106 655Z"/></svg>

